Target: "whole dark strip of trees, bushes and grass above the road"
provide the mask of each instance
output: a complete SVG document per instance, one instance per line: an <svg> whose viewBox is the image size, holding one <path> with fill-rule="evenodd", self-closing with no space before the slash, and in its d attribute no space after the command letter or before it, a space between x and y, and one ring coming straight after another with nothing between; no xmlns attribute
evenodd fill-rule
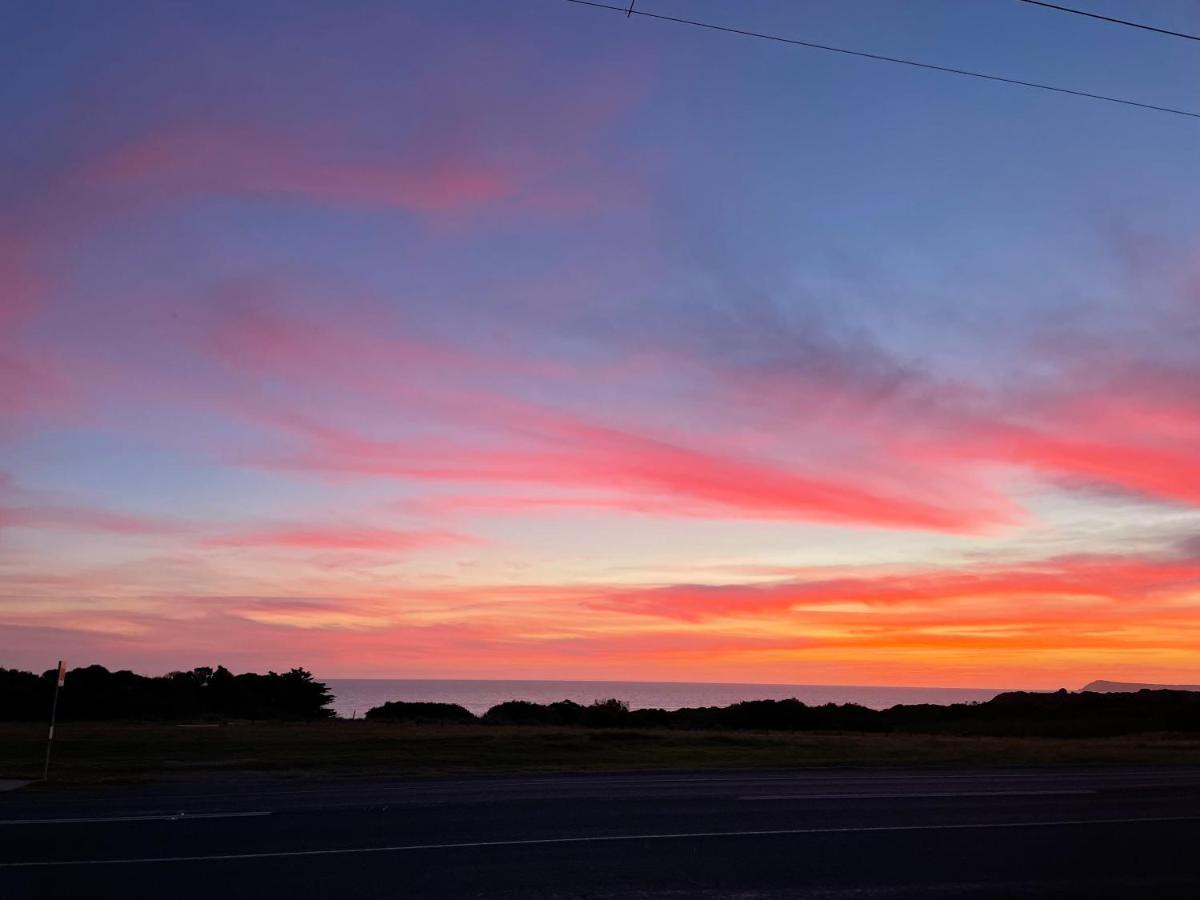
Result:
<svg viewBox="0 0 1200 900"><path fill-rule="evenodd" d="M40 773L53 690L53 671L0 670L0 776ZM262 770L1200 763L1200 694L1188 691L1019 692L884 710L797 700L676 710L630 709L617 700L510 701L482 716L452 703L390 702L365 721L331 721L329 703L325 685L299 668L160 678L74 670L59 700L52 784Z"/></svg>

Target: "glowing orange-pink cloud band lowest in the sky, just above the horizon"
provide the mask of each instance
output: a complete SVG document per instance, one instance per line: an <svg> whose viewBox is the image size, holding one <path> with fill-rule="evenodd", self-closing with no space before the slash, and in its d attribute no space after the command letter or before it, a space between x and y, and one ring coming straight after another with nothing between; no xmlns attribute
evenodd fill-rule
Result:
<svg viewBox="0 0 1200 900"><path fill-rule="evenodd" d="M31 650L70 644L89 661L120 659L151 671L301 662L330 674L604 678L617 666L626 678L990 686L1056 686L1069 678L1075 686L1097 671L1183 665L1200 624L1178 602L1198 576L1200 563L1187 554L1056 558L826 578L810 590L794 581L767 589L709 586L707 599L695 586L392 586L372 596L173 596L156 608L80 611L70 626L0 606L0 622ZM589 598L608 598L608 605L598 608ZM870 614L852 601L870 606ZM406 620L414 602L440 620ZM685 602L694 612L704 607L696 618L768 616L772 630L696 630L696 618L680 614ZM586 617L570 613L578 604ZM640 629L630 613L670 625Z"/></svg>

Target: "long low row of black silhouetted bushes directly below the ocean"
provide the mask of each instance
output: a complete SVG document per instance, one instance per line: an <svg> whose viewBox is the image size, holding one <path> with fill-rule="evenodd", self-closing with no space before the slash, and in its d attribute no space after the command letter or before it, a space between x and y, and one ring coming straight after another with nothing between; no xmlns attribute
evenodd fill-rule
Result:
<svg viewBox="0 0 1200 900"><path fill-rule="evenodd" d="M390 702L367 719L395 722L550 725L586 728L691 728L713 731L917 732L1004 737L1109 737L1200 731L1200 692L1142 690L1054 694L1014 691L983 703L901 704L870 709L856 703L808 706L799 700L751 700L727 707L630 709L618 700L509 701L476 716L454 703Z"/></svg>

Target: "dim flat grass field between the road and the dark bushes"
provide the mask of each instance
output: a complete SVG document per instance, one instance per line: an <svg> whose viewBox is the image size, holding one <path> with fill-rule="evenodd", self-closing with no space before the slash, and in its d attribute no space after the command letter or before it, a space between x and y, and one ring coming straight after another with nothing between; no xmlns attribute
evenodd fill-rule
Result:
<svg viewBox="0 0 1200 900"><path fill-rule="evenodd" d="M0 776L40 775L43 725L0 724ZM376 722L220 727L60 724L52 782L86 785L234 772L445 775L812 766L1200 763L1200 738L980 738L685 732ZM52 785L53 786L53 785Z"/></svg>

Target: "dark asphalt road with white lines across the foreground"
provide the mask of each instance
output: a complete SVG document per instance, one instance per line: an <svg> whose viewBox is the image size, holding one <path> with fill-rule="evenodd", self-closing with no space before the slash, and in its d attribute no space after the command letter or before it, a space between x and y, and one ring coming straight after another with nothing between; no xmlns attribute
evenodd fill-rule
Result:
<svg viewBox="0 0 1200 900"><path fill-rule="evenodd" d="M0 898L1200 896L1200 769L0 794Z"/></svg>

